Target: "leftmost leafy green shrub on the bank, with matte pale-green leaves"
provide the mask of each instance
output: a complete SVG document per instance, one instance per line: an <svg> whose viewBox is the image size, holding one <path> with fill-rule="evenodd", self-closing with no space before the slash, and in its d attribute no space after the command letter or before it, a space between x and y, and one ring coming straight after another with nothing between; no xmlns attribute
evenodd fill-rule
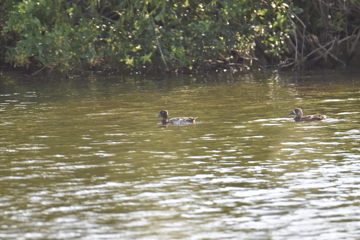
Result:
<svg viewBox="0 0 360 240"><path fill-rule="evenodd" d="M19 36L14 47L7 47L8 60L21 66L36 61L61 70L73 69L84 60L96 64L100 23L84 14L81 6L68 1L19 2L4 27L4 32Z"/></svg>

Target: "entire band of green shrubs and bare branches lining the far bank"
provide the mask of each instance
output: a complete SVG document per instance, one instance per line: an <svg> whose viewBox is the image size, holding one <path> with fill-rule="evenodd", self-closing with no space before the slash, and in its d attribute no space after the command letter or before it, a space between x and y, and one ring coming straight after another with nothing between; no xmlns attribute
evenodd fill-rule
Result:
<svg viewBox="0 0 360 240"><path fill-rule="evenodd" d="M3 0L1 70L199 73L359 64L360 0Z"/></svg>

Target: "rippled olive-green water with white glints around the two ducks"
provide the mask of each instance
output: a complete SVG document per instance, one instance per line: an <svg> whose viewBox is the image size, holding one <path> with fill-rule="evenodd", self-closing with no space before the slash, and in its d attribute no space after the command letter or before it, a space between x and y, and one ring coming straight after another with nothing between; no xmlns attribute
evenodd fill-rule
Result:
<svg viewBox="0 0 360 240"><path fill-rule="evenodd" d="M0 239L358 240L358 76L3 73Z"/></svg>

